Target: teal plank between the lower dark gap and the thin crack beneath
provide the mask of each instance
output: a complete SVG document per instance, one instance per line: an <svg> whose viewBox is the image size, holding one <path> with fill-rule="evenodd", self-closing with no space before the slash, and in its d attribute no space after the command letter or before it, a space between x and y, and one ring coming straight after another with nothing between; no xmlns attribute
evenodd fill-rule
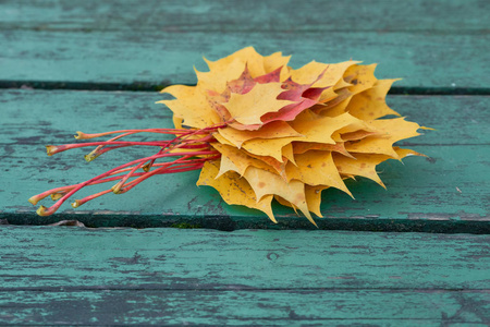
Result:
<svg viewBox="0 0 490 327"><path fill-rule="evenodd" d="M490 235L0 228L0 291L481 290Z"/></svg>

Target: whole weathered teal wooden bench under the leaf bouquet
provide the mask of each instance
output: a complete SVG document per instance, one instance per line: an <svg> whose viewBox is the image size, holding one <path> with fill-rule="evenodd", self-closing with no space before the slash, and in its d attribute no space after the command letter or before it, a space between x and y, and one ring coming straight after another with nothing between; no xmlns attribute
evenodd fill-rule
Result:
<svg viewBox="0 0 490 327"><path fill-rule="evenodd" d="M0 324L490 324L488 1L2 1ZM27 198L140 153L47 157L72 132L170 128L154 105L203 56L350 58L403 77L389 105L429 158L329 190L315 229L228 206L197 172L50 217ZM124 157L124 158L122 158ZM88 228L44 226L78 220ZM175 228L176 227L176 228Z"/></svg>

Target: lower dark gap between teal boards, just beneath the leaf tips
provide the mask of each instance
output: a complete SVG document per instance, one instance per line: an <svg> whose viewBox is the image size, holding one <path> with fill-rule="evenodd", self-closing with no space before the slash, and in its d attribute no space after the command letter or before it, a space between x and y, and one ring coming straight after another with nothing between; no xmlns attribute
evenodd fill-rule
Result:
<svg viewBox="0 0 490 327"><path fill-rule="evenodd" d="M103 215L103 216L102 216ZM131 217L131 218L130 218ZM130 219L128 219L130 218ZM176 228L176 229L211 229L218 231L238 231L247 229L260 230L330 230L330 231L364 231L364 232L424 232L444 234L490 234L489 220L483 217L478 220L440 220L424 219L378 219L376 217L327 218L316 219L318 229L304 217L289 217L278 223L266 219L250 217L233 217L207 215L204 217L175 216L160 217L127 213L77 213L59 214L39 217L33 213L0 213L0 223L12 226L47 226L60 220L73 220L84 223L88 229L94 228Z"/></svg>

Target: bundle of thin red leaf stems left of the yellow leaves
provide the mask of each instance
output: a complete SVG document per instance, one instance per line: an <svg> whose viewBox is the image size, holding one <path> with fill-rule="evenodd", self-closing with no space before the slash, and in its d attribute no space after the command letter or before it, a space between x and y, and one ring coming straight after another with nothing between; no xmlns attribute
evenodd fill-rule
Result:
<svg viewBox="0 0 490 327"><path fill-rule="evenodd" d="M157 154L130 161L121 165L109 171L106 171L97 177L94 177L85 182L56 187L48 190L40 194L34 195L29 198L33 205L36 205L39 201L50 196L56 201L50 207L39 206L37 214L40 216L49 216L56 213L60 206L72 197L76 192L85 186L97 185L109 182L117 182L112 187L85 196L81 199L75 199L72 203L72 207L78 206L97 198L108 193L122 194L132 190L143 181L149 179L156 174L184 172L191 170L201 169L204 164L208 160L218 159L221 154L210 146L210 142L215 140L212 133L220 128L224 128L224 124L209 126L205 129L144 129L144 130L121 130L97 134L86 134L77 132L76 140L91 140L106 135L119 134L108 141L103 142L86 142L75 144L64 144L60 146L48 145L46 146L48 156L52 156L58 153L62 153L69 149L82 148L88 146L96 146L96 148L85 156L87 161L91 161L100 155L110 150L130 146L157 146L160 147ZM156 133L156 134L170 134L175 135L170 141L155 141L155 142L126 142L118 141L122 137L134 135L137 133ZM159 159L174 158L172 161L156 162ZM140 171L139 171L140 170Z"/></svg>

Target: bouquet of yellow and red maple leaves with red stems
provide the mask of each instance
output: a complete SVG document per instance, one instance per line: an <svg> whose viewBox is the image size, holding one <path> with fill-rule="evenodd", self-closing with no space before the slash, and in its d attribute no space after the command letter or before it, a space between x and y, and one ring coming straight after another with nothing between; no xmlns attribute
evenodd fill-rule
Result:
<svg viewBox="0 0 490 327"><path fill-rule="evenodd" d="M48 155L97 146L85 156L126 146L156 146L158 152L109 170L83 183L33 196L57 201L37 213L51 215L78 190L115 182L102 192L72 203L73 207L107 193L125 193L144 180L164 173L200 169L197 185L215 187L232 205L264 211L275 221L271 203L299 210L313 223L321 217L321 192L339 189L352 196L345 179L365 177L384 187L376 166L388 159L420 154L393 146L427 129L387 106L385 96L396 80L377 80L376 64L357 61L327 64L313 61L297 70L281 52L262 57L248 47L226 58L206 62L197 85L173 85L160 101L173 111L174 129L124 130L98 134L78 132L77 140L118 134L106 142L47 146ZM170 134L156 142L125 142L136 133ZM169 160L170 158L170 160Z"/></svg>

